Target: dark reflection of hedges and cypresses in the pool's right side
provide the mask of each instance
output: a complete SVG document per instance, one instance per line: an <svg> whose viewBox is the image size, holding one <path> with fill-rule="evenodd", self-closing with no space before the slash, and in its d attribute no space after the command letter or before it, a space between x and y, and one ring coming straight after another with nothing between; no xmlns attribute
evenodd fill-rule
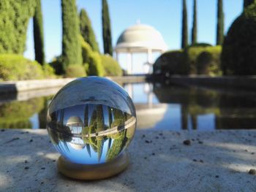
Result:
<svg viewBox="0 0 256 192"><path fill-rule="evenodd" d="M155 85L154 93L161 103L178 104L183 129L256 127L256 93L180 85Z"/></svg>

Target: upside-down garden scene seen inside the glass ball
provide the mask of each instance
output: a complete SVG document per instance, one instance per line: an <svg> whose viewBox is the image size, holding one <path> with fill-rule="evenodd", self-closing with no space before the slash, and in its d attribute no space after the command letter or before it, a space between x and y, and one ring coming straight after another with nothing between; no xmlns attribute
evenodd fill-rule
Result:
<svg viewBox="0 0 256 192"><path fill-rule="evenodd" d="M69 161L99 164L116 158L129 145L136 119L103 104L82 104L50 114L51 141Z"/></svg>

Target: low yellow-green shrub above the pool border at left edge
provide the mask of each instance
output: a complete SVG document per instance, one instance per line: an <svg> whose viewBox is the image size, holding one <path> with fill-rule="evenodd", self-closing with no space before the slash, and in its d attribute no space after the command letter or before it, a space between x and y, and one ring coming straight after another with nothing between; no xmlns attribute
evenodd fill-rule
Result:
<svg viewBox="0 0 256 192"><path fill-rule="evenodd" d="M37 80L44 77L42 66L22 55L0 54L0 80Z"/></svg>

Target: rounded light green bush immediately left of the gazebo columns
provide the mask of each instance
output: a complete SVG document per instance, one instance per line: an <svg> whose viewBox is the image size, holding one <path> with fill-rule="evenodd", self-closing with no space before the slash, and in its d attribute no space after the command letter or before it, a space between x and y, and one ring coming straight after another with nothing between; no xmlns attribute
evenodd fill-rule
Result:
<svg viewBox="0 0 256 192"><path fill-rule="evenodd" d="M121 66L119 66L113 57L110 55L101 55L101 58L106 76L121 76L123 74Z"/></svg>

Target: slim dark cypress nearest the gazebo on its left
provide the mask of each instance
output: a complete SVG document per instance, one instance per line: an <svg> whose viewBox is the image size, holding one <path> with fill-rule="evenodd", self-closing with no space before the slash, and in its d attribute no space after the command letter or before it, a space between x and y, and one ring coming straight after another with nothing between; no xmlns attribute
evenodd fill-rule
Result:
<svg viewBox="0 0 256 192"><path fill-rule="evenodd" d="M108 12L107 0L102 0L102 34L103 34L104 53L113 55L110 17Z"/></svg>

